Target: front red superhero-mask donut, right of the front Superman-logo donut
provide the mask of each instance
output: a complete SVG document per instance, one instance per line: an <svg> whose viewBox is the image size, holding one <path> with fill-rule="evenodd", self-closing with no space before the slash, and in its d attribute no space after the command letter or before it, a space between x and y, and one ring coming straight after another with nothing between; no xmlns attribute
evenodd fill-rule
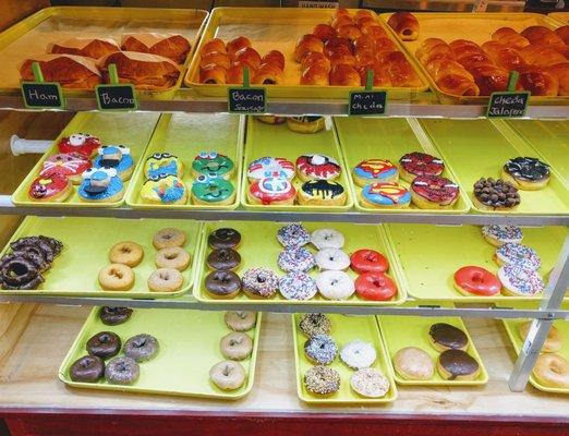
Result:
<svg viewBox="0 0 569 436"><path fill-rule="evenodd" d="M411 183L411 201L421 209L451 207L459 197L459 187L438 175L419 175Z"/></svg>

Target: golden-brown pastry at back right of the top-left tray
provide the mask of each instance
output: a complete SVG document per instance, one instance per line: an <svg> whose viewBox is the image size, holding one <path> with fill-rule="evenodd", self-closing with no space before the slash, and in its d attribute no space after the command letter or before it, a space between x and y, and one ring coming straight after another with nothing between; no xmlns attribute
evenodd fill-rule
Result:
<svg viewBox="0 0 569 436"><path fill-rule="evenodd" d="M179 34L138 33L122 37L123 51L158 55L182 64L192 48L190 41Z"/></svg>

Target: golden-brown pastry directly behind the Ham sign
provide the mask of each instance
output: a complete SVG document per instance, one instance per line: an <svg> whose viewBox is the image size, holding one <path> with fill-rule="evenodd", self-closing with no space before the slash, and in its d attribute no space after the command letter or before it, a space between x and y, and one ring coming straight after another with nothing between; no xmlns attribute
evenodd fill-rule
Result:
<svg viewBox="0 0 569 436"><path fill-rule="evenodd" d="M101 74L90 58L73 55L40 55L22 63L23 81L34 81L32 63L38 62L46 82L59 82L64 88L93 89L101 83Z"/></svg>

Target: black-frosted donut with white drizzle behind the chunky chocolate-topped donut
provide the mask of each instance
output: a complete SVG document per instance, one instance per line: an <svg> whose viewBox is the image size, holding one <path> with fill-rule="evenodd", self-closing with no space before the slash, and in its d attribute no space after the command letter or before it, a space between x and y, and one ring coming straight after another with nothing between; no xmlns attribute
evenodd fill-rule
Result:
<svg viewBox="0 0 569 436"><path fill-rule="evenodd" d="M534 157L516 157L506 162L501 177L520 190L541 190L549 182L549 166Z"/></svg>

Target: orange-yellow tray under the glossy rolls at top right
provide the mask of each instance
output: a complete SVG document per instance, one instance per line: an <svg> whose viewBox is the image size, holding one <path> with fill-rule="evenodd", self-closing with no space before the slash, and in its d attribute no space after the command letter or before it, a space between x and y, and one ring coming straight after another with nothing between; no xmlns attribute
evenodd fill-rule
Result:
<svg viewBox="0 0 569 436"><path fill-rule="evenodd" d="M383 13L380 19L386 23L392 13ZM461 12L414 12L419 21L419 38L414 41L403 41L389 27L391 34L401 44L408 55L419 65L423 75L427 77L432 89L435 89L440 102L443 104L461 104L461 105L483 105L488 102L489 96L477 97L457 97L443 92L431 74L425 70L421 62L415 58L415 52L423 41L427 38L440 38L446 43L455 39L465 38L479 45L492 39L492 34L500 27L512 27L521 32L529 26L545 26L548 28L556 28L559 25L555 20L548 19L545 15L526 12L486 12L486 13L461 13ZM569 99L567 97L530 97L532 105L567 105Z"/></svg>

